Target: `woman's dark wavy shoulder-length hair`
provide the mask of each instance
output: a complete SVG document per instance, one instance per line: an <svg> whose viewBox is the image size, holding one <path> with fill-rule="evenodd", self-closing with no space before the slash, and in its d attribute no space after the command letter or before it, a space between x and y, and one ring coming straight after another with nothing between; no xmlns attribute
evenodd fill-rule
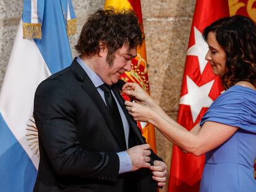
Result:
<svg viewBox="0 0 256 192"><path fill-rule="evenodd" d="M211 23L203 31L207 41L209 32L226 52L225 72L221 75L225 90L238 81L256 85L256 26L248 17L235 15Z"/></svg>

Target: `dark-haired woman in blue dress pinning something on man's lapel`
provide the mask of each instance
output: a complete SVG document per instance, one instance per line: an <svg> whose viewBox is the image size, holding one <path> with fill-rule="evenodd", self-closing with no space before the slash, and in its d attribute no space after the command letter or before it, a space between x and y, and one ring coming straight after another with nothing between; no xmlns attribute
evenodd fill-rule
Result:
<svg viewBox="0 0 256 192"><path fill-rule="evenodd" d="M188 131L171 119L139 85L126 83L124 93L135 120L150 122L174 144L195 156L206 153L200 191L256 191L256 26L236 15L205 28L205 59L224 89L203 116L200 125Z"/></svg>

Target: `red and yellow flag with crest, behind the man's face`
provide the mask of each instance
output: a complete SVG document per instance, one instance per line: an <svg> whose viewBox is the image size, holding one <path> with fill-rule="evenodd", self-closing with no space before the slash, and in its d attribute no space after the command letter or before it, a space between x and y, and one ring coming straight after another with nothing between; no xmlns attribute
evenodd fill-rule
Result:
<svg viewBox="0 0 256 192"><path fill-rule="evenodd" d="M106 0L105 9L108 9L109 7L114 7L116 9L134 10L134 12L137 14L137 17L139 18L139 22L143 30L140 0ZM137 50L137 56L132 59L132 69L130 72L123 73L119 78L126 82L138 83L145 91L147 91L148 94L150 94L145 41ZM138 122L138 126L141 128L142 134L146 138L147 143L150 144L151 149L156 152L155 129L153 125L149 123Z"/></svg>

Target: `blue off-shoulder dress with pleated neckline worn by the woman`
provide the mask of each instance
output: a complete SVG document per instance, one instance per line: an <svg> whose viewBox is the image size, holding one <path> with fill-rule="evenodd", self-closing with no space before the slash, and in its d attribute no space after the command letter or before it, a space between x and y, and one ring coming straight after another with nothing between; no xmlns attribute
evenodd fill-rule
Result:
<svg viewBox="0 0 256 192"><path fill-rule="evenodd" d="M205 155L201 192L256 192L256 91L235 85L219 96L204 122L239 127L229 140Z"/></svg>

